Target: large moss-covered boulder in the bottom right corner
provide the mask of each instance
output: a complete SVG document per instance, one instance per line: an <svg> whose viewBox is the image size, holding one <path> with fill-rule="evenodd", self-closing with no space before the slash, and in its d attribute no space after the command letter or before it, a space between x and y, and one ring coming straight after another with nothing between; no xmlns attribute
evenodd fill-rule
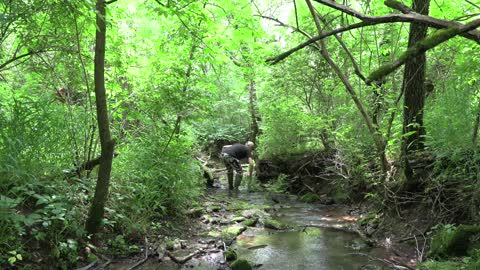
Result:
<svg viewBox="0 0 480 270"><path fill-rule="evenodd" d="M466 255L472 246L471 238L480 235L480 226L443 226L432 238L430 256L445 258L451 255Z"/></svg>

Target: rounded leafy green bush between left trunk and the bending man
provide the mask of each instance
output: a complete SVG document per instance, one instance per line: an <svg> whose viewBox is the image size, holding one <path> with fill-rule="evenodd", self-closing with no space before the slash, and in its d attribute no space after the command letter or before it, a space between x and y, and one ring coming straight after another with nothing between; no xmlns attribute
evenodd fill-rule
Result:
<svg viewBox="0 0 480 270"><path fill-rule="evenodd" d="M135 139L119 149L122 155L115 161L112 192L121 196L115 208L132 222L149 224L154 216L179 213L204 187L188 137L174 139L168 146L168 138L159 138L150 133Z"/></svg>

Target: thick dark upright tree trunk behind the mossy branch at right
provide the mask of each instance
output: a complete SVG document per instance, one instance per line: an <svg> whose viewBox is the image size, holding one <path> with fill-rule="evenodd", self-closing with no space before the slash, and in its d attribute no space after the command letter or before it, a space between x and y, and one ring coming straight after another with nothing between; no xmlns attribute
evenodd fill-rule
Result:
<svg viewBox="0 0 480 270"><path fill-rule="evenodd" d="M420 14L428 15L430 0L414 0L413 10ZM427 36L428 27L424 24L410 24L408 47ZM414 173L409 163L409 155L424 149L423 109L425 105L425 71L426 55L421 53L405 63L403 76L404 106L403 106L403 157L405 160L406 188L416 186Z"/></svg>

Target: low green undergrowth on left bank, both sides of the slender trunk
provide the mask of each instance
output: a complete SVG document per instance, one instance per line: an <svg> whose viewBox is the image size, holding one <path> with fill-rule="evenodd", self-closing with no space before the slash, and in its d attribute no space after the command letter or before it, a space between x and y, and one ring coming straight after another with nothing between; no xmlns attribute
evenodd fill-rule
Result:
<svg viewBox="0 0 480 270"><path fill-rule="evenodd" d="M90 257L84 229L95 188L92 173L75 173L72 144L83 144L82 113L42 100L19 99L0 113L0 265L71 269ZM71 113L71 114L70 114ZM35 123L32 126L30 123ZM57 128L54 128L57 127ZM65 130L72 129L70 135ZM152 139L154 138L154 139ZM153 140L153 141L152 141ZM138 252L151 230L173 226L204 184L192 137L155 131L117 145L110 195L95 253ZM66 153L70 153L67 154ZM167 218L170 217L170 218Z"/></svg>

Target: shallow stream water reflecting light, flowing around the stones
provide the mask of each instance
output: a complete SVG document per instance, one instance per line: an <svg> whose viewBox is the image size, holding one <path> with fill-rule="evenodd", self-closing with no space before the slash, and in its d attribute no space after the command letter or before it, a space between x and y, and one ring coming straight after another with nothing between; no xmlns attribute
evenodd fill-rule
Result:
<svg viewBox="0 0 480 270"><path fill-rule="evenodd" d="M223 193L223 194L222 194ZM217 189L212 196L225 195ZM392 269L382 262L388 256L383 248L372 248L348 230L355 217L340 206L306 204L295 196L248 193L241 191L237 199L251 204L273 207L271 216L299 227L295 230L271 230L263 226L248 227L238 235L231 248L238 257L256 265L256 269L280 270L358 270ZM280 196L280 197L278 197ZM275 202L274 202L275 201ZM195 257L180 266L171 261L149 260L136 269L229 269L222 252ZM110 267L110 269L128 269Z"/></svg>

